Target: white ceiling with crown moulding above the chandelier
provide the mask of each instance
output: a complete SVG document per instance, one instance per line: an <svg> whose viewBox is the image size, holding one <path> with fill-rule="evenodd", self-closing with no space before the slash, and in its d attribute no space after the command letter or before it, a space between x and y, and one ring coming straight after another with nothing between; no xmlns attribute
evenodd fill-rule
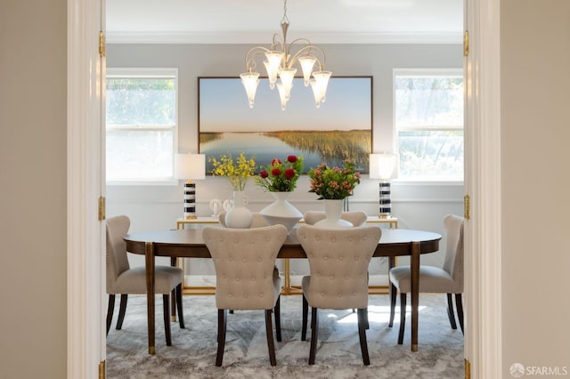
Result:
<svg viewBox="0 0 570 379"><path fill-rule="evenodd" d="M106 0L110 44L260 44L281 33L282 0ZM463 0L289 0L288 41L461 43Z"/></svg>

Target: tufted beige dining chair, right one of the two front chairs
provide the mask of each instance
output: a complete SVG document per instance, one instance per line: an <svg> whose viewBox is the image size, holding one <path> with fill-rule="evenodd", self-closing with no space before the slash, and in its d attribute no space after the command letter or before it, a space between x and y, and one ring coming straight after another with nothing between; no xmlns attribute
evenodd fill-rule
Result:
<svg viewBox="0 0 570 379"><path fill-rule="evenodd" d="M311 351L309 365L314 365L317 346L319 308L356 309L358 335L364 365L370 365L366 329L368 328L368 266L378 246L382 230L362 226L328 230L301 225L297 236L307 259L310 276L303 277L303 326L306 339L308 306L311 306Z"/></svg>

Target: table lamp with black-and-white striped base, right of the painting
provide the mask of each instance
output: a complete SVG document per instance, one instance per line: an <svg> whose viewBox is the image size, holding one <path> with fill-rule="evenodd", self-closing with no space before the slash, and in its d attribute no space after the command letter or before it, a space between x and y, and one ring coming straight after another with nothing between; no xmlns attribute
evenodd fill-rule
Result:
<svg viewBox="0 0 570 379"><path fill-rule="evenodd" d="M382 153L370 156L370 177L379 179L379 218L389 218L392 213L390 180L398 176L398 156Z"/></svg>

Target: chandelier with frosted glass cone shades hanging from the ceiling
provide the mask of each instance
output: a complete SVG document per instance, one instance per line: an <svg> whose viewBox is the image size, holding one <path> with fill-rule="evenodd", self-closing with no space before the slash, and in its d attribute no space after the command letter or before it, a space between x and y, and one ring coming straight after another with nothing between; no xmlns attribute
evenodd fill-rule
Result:
<svg viewBox="0 0 570 379"><path fill-rule="evenodd" d="M298 63L303 71L305 87L311 85L314 94L314 104L319 108L326 100L327 85L332 74L324 71L326 56L322 49L311 44L306 38L297 38L287 44L287 29L289 19L287 17L287 0L283 2L283 18L281 19L281 30L283 35L275 33L271 49L264 46L256 46L249 49L245 57L247 72L240 75L241 83L248 94L249 108L253 108L256 99L257 85L259 85L259 73L256 72L256 60L265 57L263 60L269 87L273 90L275 85L279 91L281 99L281 109L285 110L289 101L293 78L297 74L297 69L293 66ZM319 60L321 58L321 60ZM318 63L319 70L313 71L314 64ZM313 75L313 78L311 78ZM280 81L277 83L277 77Z"/></svg>

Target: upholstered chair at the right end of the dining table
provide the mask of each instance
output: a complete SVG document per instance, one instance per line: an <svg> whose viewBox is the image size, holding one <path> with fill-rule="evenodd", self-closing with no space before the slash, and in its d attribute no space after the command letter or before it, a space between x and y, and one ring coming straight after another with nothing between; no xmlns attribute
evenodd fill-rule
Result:
<svg viewBox="0 0 570 379"><path fill-rule="evenodd" d="M447 316L453 329L457 329L453 316L452 294L455 294L457 317L463 332L463 223L460 216L448 214L444 217L446 241L444 266L419 266L419 293L447 294ZM389 272L390 283L400 291L400 334L398 343L403 343L406 322L406 294L411 292L411 269L409 265L398 266ZM394 323L395 296L390 304L389 327Z"/></svg>

